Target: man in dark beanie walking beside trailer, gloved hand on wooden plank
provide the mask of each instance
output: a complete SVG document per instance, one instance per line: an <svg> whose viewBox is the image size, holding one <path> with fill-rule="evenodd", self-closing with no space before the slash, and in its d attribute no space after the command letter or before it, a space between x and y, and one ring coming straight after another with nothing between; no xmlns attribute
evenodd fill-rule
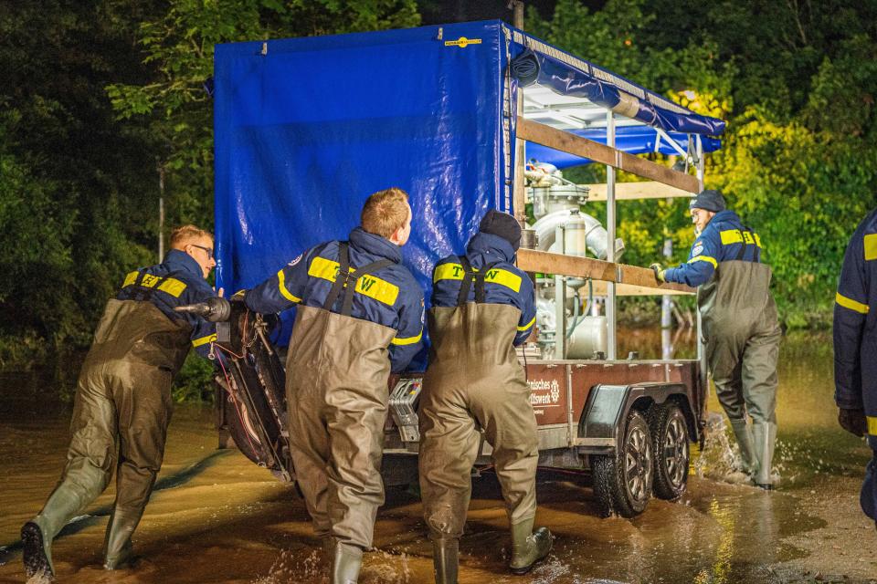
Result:
<svg viewBox="0 0 877 584"><path fill-rule="evenodd" d="M688 262L652 269L661 282L698 288L707 364L740 446L742 470L770 489L781 337L771 270L761 261L761 238L725 209L722 193L703 191L690 206L696 239Z"/></svg>

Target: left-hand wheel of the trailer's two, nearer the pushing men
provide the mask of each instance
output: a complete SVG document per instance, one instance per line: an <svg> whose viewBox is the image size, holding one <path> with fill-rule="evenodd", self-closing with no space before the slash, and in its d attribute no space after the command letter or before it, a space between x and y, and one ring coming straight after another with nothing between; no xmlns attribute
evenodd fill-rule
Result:
<svg viewBox="0 0 877 584"><path fill-rule="evenodd" d="M598 455L592 461L600 516L638 516L649 504L655 474L654 448L649 424L640 412L630 411L623 437L617 454Z"/></svg>

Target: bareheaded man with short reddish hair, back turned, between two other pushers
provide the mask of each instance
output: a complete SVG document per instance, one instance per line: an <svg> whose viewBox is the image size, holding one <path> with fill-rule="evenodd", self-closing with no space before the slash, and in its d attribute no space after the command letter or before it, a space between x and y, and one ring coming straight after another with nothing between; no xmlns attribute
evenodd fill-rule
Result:
<svg viewBox="0 0 877 584"><path fill-rule="evenodd" d="M292 463L333 584L356 582L384 504L387 379L417 354L423 291L402 266L407 193L372 194L349 241L312 247L248 291L261 313L297 306L286 364Z"/></svg>

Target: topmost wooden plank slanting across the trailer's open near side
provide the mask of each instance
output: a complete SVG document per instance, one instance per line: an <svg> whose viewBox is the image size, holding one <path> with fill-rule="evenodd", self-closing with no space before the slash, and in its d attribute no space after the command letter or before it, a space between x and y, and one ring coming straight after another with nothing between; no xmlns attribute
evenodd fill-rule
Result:
<svg viewBox="0 0 877 584"><path fill-rule="evenodd" d="M622 152L605 144L576 136L568 131L555 130L537 121L518 117L517 137L542 144L548 148L568 152L594 162L608 164L620 171L669 184L688 193L700 193L700 183L690 174L676 172L666 166Z"/></svg>

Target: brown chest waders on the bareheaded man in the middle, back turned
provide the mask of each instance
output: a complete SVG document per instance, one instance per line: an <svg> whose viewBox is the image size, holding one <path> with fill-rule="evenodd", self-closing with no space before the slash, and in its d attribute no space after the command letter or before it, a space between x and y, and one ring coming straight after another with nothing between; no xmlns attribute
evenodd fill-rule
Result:
<svg viewBox="0 0 877 584"><path fill-rule="evenodd" d="M393 264L384 259L353 269L342 242L322 308L300 306L292 328L286 367L292 463L305 477L299 486L332 558L333 582L356 581L384 504L387 348L396 330L351 312L362 278ZM334 313L339 298L341 312Z"/></svg>

